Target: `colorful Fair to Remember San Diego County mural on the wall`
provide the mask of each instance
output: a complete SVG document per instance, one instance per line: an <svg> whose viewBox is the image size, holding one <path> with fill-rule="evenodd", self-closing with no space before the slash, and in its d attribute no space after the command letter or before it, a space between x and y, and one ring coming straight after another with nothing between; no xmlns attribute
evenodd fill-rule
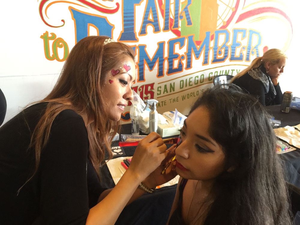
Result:
<svg viewBox="0 0 300 225"><path fill-rule="evenodd" d="M40 60L62 66L89 35L127 43L136 52L133 89L142 99L157 99L159 113L186 114L214 76L236 75L269 48L288 49L293 34L284 0L41 0L37 9Z"/></svg>

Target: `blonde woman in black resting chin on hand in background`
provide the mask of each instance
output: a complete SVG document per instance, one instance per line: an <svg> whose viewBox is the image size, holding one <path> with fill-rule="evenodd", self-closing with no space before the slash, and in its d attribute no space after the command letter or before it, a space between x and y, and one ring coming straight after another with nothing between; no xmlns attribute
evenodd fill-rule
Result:
<svg viewBox="0 0 300 225"><path fill-rule="evenodd" d="M280 49L269 49L233 77L231 83L256 97L264 106L281 104L282 92L278 78L283 73L286 58Z"/></svg>

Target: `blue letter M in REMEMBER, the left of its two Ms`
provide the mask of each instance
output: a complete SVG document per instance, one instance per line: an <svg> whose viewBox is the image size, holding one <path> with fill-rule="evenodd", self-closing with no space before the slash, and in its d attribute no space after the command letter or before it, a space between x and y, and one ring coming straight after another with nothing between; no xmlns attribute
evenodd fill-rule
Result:
<svg viewBox="0 0 300 225"><path fill-rule="evenodd" d="M158 73L157 77L164 76L164 44L165 42L158 42L158 49L156 49L155 54L152 58L149 57L146 52L146 45L139 45L139 78L138 82L145 81L144 71L145 71L145 63L148 65L149 70L152 71L154 69L155 64L158 61Z"/></svg>

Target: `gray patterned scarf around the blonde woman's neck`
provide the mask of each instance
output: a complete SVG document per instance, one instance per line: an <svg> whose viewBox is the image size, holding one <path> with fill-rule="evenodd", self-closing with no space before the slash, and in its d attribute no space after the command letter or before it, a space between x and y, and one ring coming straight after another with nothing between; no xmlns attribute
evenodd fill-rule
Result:
<svg viewBox="0 0 300 225"><path fill-rule="evenodd" d="M270 87L271 87L271 98L274 99L276 96L276 91L274 88L274 85L271 81L270 76L266 75L265 73L262 72L262 65L258 68L253 68L251 70L248 71L248 74L256 79L259 80L260 82L262 82L264 88L265 88L265 94L267 94L270 91Z"/></svg>

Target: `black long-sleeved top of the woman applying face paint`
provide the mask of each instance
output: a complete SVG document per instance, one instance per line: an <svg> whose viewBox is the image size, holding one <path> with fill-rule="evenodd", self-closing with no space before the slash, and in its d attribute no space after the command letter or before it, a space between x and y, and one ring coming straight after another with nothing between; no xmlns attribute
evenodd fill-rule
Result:
<svg viewBox="0 0 300 225"><path fill-rule="evenodd" d="M0 128L0 224L85 224L103 191L84 121L73 110L55 118L38 171L25 184L35 170L30 138L46 106L28 107Z"/></svg>

